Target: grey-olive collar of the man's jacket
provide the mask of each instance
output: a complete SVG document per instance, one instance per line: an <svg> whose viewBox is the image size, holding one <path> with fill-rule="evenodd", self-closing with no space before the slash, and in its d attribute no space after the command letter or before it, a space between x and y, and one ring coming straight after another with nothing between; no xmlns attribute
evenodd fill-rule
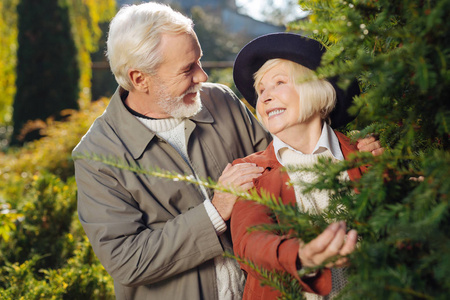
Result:
<svg viewBox="0 0 450 300"><path fill-rule="evenodd" d="M143 125L133 114L125 107L123 100L128 92L121 87L117 88L111 101L105 111L105 120L116 132L117 136L123 141L125 147L138 159L148 144L156 134ZM202 110L193 117L188 118L189 134L195 128L195 123L213 123L214 118L209 110L203 105ZM157 137L157 136L156 136ZM159 137L157 137L160 139Z"/></svg>

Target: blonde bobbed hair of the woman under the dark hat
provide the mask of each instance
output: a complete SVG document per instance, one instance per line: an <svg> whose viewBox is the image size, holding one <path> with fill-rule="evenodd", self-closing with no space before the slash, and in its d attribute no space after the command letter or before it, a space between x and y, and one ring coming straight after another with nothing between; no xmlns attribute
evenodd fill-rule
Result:
<svg viewBox="0 0 450 300"><path fill-rule="evenodd" d="M327 123L336 106L336 91L328 81L317 79L314 71L290 60L270 59L253 75L254 88L260 96L258 86L262 77L275 66L285 65L289 70L289 80L294 84L300 102L299 122L304 122L316 113ZM259 117L259 116L258 116Z"/></svg>

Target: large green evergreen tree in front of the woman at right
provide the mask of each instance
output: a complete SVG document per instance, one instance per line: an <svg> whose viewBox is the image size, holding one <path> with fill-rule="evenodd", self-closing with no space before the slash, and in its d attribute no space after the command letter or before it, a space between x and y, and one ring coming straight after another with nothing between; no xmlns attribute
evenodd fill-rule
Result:
<svg viewBox="0 0 450 300"><path fill-rule="evenodd" d="M259 199L281 220L263 229L294 232L305 242L330 220L356 229L361 240L342 299L448 299L450 1L299 2L311 11L309 21L289 30L328 48L319 76L340 75L342 86L360 81L363 93L352 108L360 114L342 130L360 130L355 137L376 132L386 152L315 166L318 180L307 188L333 192L323 215ZM370 166L359 182L339 182L340 172L359 165ZM289 276L259 272L285 299L301 298Z"/></svg>

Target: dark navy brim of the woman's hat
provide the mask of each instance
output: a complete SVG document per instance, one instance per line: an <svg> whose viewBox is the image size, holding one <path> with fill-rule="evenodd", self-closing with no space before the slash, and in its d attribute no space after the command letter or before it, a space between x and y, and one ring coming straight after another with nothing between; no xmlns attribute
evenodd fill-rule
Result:
<svg viewBox="0 0 450 300"><path fill-rule="evenodd" d="M255 107L257 94L253 86L253 74L266 61L282 58L316 70L324 53L322 44L299 34L282 32L263 35L249 42L238 53L233 66L234 83L247 102ZM336 90L337 98L336 106L330 114L331 126L338 128L355 118L348 113L348 109L360 90L356 80L345 91L338 87L338 78L329 78L328 81Z"/></svg>

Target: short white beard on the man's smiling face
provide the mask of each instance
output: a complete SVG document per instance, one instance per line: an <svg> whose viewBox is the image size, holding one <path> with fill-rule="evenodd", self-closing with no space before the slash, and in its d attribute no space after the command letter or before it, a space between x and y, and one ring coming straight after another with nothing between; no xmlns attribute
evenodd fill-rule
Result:
<svg viewBox="0 0 450 300"><path fill-rule="evenodd" d="M183 95L175 98L167 93L167 88L164 84L160 84L158 105L166 114L174 118L189 118L196 115L202 109L202 101L200 100L201 83L189 88ZM191 93L197 93L192 99L194 102L191 104L184 103L183 98Z"/></svg>

